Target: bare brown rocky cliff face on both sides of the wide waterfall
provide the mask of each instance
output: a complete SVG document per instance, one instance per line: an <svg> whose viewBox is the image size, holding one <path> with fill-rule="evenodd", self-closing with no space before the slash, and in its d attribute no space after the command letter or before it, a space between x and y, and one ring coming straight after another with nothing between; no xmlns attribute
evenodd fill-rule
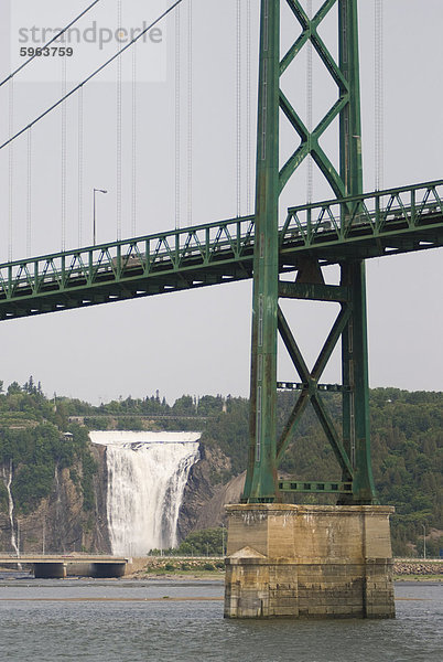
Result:
<svg viewBox="0 0 443 662"><path fill-rule="evenodd" d="M106 447L91 445L90 450L98 467L94 477L94 509L84 510L76 478L80 468L56 469L52 492L37 509L29 515L12 513L21 554L111 552L106 511ZM180 511L180 541L192 531L219 525L224 521L225 503L239 501L242 476L227 484L214 484L214 476L229 470L229 460L219 449L201 445L201 460L191 470ZM15 554L8 510L0 512L0 551Z"/></svg>

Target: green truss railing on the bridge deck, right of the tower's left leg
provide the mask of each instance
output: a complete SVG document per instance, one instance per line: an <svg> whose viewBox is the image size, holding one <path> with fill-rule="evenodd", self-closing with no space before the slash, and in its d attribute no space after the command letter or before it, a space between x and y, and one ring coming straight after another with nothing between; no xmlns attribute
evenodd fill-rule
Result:
<svg viewBox="0 0 443 662"><path fill-rule="evenodd" d="M336 243L414 229L441 220L443 180L290 207L280 243Z"/></svg>

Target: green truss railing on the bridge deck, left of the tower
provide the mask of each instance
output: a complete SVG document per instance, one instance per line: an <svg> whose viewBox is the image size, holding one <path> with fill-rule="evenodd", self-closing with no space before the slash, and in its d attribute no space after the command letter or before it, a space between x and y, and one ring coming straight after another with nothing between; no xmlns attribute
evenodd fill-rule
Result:
<svg viewBox="0 0 443 662"><path fill-rule="evenodd" d="M253 216L244 216L6 263L0 300L238 260L252 244Z"/></svg>

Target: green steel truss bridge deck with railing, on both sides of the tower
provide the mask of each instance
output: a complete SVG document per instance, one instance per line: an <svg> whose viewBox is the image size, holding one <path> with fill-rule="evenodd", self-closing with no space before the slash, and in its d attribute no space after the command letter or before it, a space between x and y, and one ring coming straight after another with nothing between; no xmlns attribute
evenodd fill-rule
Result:
<svg viewBox="0 0 443 662"><path fill-rule="evenodd" d="M246 216L0 265L0 320L242 280L252 276ZM280 273L443 246L443 180L291 207Z"/></svg>

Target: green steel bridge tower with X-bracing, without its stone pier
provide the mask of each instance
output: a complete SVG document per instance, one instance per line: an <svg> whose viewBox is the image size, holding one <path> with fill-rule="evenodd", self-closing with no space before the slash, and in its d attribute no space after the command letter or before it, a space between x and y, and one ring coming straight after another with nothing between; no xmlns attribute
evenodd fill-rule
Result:
<svg viewBox="0 0 443 662"><path fill-rule="evenodd" d="M281 4L285 2L302 26L302 34L281 58ZM338 6L339 62L320 38L318 26ZM337 87L337 100L322 121L309 130L281 88L281 77L311 41ZM290 159L280 168L280 111L301 138ZM339 116L339 172L336 171L318 139ZM256 245L253 257L253 312L251 357L251 413L246 502L272 502L281 498L278 466L292 433L309 402L326 433L341 465L341 485L318 481L322 491L341 491L341 502L371 504L375 490L370 466L368 351L366 328L365 263L350 252L338 259L341 285L346 296L341 312L312 372L299 350L295 338L279 307L279 298L331 300L324 285L321 255L300 261L294 284L279 281L279 196L303 159L311 154L337 199L359 195L361 177L361 127L359 98L357 0L326 0L316 15L309 18L298 0L262 0L259 58L259 117L257 140ZM346 206L343 212L346 216ZM342 223L344 220L342 216ZM302 385L291 416L277 438L277 340L280 333L300 375ZM337 434L318 389L318 380L337 343L343 354L343 438ZM296 484L292 490L303 490ZM288 483L288 481L287 481ZM311 485L306 485L311 489ZM315 489L315 485L314 485Z"/></svg>

